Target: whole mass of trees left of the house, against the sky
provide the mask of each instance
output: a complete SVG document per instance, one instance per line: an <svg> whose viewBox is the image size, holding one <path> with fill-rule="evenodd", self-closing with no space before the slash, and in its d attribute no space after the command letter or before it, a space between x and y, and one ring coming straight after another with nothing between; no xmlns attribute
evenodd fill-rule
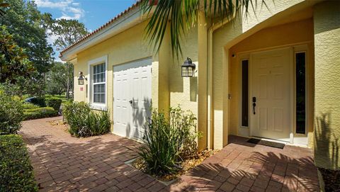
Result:
<svg viewBox="0 0 340 192"><path fill-rule="evenodd" d="M0 0L0 8L4 7L0 9L0 83L8 93L59 94L72 87L73 66L53 61L47 35L54 36L53 45L62 50L86 35L84 24L53 19L50 13L40 13L34 1Z"/></svg>

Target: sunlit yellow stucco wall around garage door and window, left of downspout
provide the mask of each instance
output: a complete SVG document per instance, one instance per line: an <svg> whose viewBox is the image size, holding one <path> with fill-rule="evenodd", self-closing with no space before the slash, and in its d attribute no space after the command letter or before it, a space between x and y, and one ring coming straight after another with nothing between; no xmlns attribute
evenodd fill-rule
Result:
<svg viewBox="0 0 340 192"><path fill-rule="evenodd" d="M166 35L159 53L156 54L145 39L143 33L145 25L146 22L140 23L98 45L79 52L77 63L74 64L74 81L77 82L78 72L80 71L84 72L86 77L89 77L89 61L108 55L107 108L111 112L111 118L113 118L113 66L152 57L152 107L168 111L169 106L180 105L183 110L190 110L198 117L199 28L195 25L188 31L182 41L183 57L174 59L171 55L169 34ZM191 57L195 62L196 77L181 77L181 64L186 60L186 57ZM81 87L83 87L83 91L80 91ZM89 101L86 85L74 85L74 101Z"/></svg>

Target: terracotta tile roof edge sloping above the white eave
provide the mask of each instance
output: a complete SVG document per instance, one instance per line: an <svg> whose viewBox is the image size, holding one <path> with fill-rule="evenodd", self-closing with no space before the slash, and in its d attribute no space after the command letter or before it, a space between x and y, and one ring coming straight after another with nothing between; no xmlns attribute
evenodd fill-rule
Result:
<svg viewBox="0 0 340 192"><path fill-rule="evenodd" d="M111 23L115 22L118 18L120 18L120 17L124 16L125 14L129 13L130 11L132 11L132 9L135 9L135 7L137 7L140 4L141 1L142 0L138 0L135 4L132 4L132 6L130 6L128 9L125 9L125 11L122 11L121 13L119 13L118 16L115 16L110 21L105 23L103 26L100 26L99 28L97 28L96 30L92 31L91 33L88 33L83 38L79 39L76 43L74 43L74 44L70 45L69 47L67 47L66 49L62 50L62 52L65 52L65 51L69 50L70 48L74 47L75 45L78 45L82 41L86 40L87 38L90 38L92 35L94 35L94 34L98 33L99 31L103 30L103 28L106 28L108 25L110 25ZM62 52L60 52L60 56L59 57L62 57Z"/></svg>

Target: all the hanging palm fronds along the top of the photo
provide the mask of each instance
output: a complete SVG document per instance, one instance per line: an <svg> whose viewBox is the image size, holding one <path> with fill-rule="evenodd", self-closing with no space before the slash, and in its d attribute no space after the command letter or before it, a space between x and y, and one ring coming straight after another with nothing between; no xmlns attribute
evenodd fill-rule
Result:
<svg viewBox="0 0 340 192"><path fill-rule="evenodd" d="M264 1L262 4L266 6ZM182 53L181 37L196 22L199 10L205 16L232 21L237 12L246 15L250 6L254 10L256 3L256 0L142 0L140 8L150 17L145 30L154 49L159 51L166 28L170 28L171 50L179 57ZM168 21L171 22L168 24Z"/></svg>

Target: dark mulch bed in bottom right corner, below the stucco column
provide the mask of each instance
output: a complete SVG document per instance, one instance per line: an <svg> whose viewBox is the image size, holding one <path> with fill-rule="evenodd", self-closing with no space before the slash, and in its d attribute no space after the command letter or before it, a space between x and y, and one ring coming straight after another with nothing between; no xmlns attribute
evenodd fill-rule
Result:
<svg viewBox="0 0 340 192"><path fill-rule="evenodd" d="M340 170L318 169L324 179L324 191L340 191Z"/></svg>

